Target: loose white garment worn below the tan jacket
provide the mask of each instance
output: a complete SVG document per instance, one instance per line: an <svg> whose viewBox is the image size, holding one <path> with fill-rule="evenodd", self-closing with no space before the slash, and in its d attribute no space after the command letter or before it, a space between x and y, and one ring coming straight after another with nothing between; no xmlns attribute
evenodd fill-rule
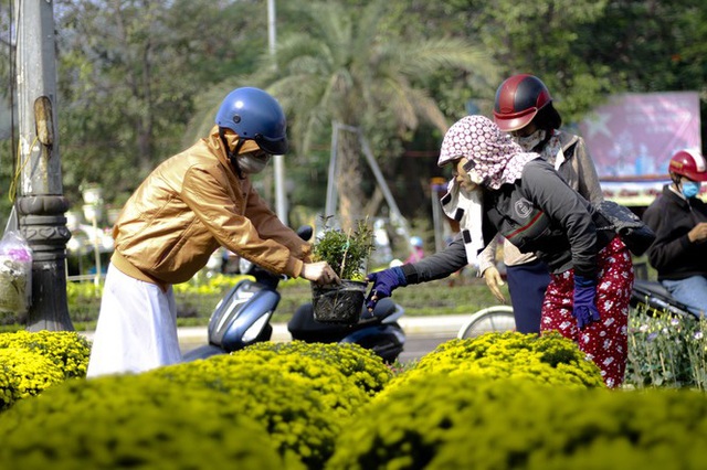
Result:
<svg viewBox="0 0 707 470"><path fill-rule="evenodd" d="M139 373L180 361L171 286L163 292L109 265L86 376Z"/></svg>

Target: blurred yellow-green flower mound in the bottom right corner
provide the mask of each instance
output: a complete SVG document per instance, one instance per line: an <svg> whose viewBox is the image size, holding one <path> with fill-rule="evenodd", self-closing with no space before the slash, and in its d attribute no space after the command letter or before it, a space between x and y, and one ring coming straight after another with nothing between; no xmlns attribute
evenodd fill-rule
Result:
<svg viewBox="0 0 707 470"><path fill-rule="evenodd" d="M380 398L348 424L327 469L704 468L703 393L435 372Z"/></svg>

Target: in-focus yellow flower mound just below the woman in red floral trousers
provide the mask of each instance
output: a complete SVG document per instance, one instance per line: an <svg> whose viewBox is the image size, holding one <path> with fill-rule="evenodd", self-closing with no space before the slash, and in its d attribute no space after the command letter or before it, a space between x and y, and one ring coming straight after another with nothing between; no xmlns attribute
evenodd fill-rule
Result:
<svg viewBox="0 0 707 470"><path fill-rule="evenodd" d="M564 387L603 387L599 367L577 344L559 333L486 333L451 340L424 355L414 367L395 376L383 394L408 382L424 382L430 373L514 377Z"/></svg>

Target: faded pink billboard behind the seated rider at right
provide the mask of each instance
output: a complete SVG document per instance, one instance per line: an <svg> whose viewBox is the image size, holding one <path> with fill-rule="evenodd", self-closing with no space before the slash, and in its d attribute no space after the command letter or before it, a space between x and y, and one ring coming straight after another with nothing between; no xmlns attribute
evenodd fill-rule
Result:
<svg viewBox="0 0 707 470"><path fill-rule="evenodd" d="M602 181L667 180L667 164L677 150L701 150L699 96L696 92L616 95L579 128Z"/></svg>

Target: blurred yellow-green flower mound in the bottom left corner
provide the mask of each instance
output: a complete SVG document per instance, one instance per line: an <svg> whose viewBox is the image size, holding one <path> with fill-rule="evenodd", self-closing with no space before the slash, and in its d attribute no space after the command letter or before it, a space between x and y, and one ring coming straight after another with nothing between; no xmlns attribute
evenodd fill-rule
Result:
<svg viewBox="0 0 707 470"><path fill-rule="evenodd" d="M0 467L298 469L218 391L156 376L68 381L0 418Z"/></svg>

